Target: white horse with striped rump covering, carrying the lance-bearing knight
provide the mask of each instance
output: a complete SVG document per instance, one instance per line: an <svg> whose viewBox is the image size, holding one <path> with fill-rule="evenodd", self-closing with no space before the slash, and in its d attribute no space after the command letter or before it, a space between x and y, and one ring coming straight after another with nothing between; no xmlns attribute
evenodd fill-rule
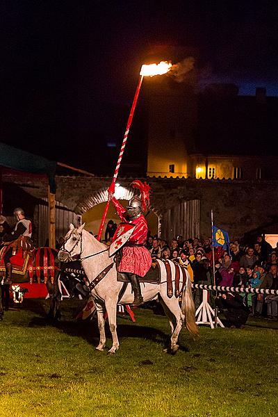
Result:
<svg viewBox="0 0 278 417"><path fill-rule="evenodd" d="M77 255L81 258L81 263L85 274L90 282L89 288L92 297L97 306L97 320L99 326L99 345L97 350L104 350L106 345L106 335L104 330L104 313L107 311L109 327L111 330L113 345L108 351L108 354L115 353L120 346L117 338L117 304L120 291L123 283L117 281L116 264L113 258L108 256L108 249L104 243L100 243L88 231L83 229L85 223L75 229L73 224L70 224L70 231L65 236L65 243L58 253L60 261L67 261ZM172 272L172 281L175 280L176 268L172 261L169 261ZM144 301L155 300L157 297L163 305L163 309L167 318L170 321L172 330L170 352L175 353L179 349L177 344L179 333L185 322L186 327L193 335L198 334L197 325L195 323L195 306L191 293L190 277L186 271L186 285L182 282L181 269L179 281L179 291L181 292L181 308L179 306L179 297L175 294L172 297L167 295L167 281L166 269L163 261L158 260L161 268L161 283L149 284L141 283L142 296ZM107 270L108 272L106 272ZM181 268L179 266L179 268ZM105 271L106 270L106 271ZM106 272L106 275L105 275ZM124 295L120 300L120 304L132 304L133 293L131 293L131 284L128 284Z"/></svg>

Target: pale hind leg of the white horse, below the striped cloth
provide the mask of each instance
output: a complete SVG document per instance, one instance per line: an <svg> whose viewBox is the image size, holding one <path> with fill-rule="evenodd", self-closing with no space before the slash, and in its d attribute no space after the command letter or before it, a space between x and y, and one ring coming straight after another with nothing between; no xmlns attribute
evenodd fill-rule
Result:
<svg viewBox="0 0 278 417"><path fill-rule="evenodd" d="M170 352L172 354L176 353L179 349L179 345L177 344L179 333L183 327L184 322L184 314L181 312L179 307L179 300L176 297L168 298L167 295L165 297L161 297L161 304L165 311L167 318L169 318L170 327L172 330L171 335L171 343L170 343Z"/></svg>

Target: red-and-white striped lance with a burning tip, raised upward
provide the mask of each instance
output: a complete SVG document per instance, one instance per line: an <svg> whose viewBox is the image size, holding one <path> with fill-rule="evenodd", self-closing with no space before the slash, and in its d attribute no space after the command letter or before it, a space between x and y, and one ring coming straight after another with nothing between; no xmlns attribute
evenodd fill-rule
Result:
<svg viewBox="0 0 278 417"><path fill-rule="evenodd" d="M135 93L134 98L133 98L133 103L132 103L132 106L131 106L131 112L129 114L129 119L127 120L126 131L124 133L124 139L122 141L122 147L120 149L120 154L119 154L119 158L117 160L117 165L116 165L116 168L115 168L113 180L112 180L111 186L108 189L108 201L107 201L106 206L104 208L104 215L102 216L101 224L99 226L99 234L97 235L97 240L101 239L101 233L104 229L104 222L106 220L108 207L109 207L109 203L110 203L110 200L111 200L111 194L113 194L115 192L115 183L116 183L116 180L117 180L117 174L118 174L119 169L120 169L122 156L124 154L124 148L126 147L126 140L127 140L127 137L129 136L129 129L131 128L133 114L134 114L134 111L135 111L135 108L136 108L136 104L137 104L137 100L138 100L138 96L139 96L139 92L140 92L140 89L141 89L141 85L142 85L142 81L144 79L144 76L163 75L163 74L166 74L166 72L170 71L171 67L172 67L172 64L168 63L167 61L161 61L161 63L159 63L159 64L142 65L142 67L141 67L140 78L139 78L139 82L138 82L138 85L137 85L137 88L136 88L136 93Z"/></svg>

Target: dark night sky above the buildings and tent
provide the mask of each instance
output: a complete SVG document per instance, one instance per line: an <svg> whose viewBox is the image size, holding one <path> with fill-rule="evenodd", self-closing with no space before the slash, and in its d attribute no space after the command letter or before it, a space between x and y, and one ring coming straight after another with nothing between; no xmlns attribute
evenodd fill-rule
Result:
<svg viewBox="0 0 278 417"><path fill-rule="evenodd" d="M157 44L196 49L201 86L278 95L277 12L277 2L255 0L3 0L1 140L93 172L99 144L124 133L128 114L111 104L129 109Z"/></svg>

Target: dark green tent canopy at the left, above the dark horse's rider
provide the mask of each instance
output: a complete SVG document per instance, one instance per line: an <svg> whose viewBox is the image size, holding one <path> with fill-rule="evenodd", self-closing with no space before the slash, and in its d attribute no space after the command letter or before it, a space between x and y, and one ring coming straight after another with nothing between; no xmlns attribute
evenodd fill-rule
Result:
<svg viewBox="0 0 278 417"><path fill-rule="evenodd" d="M50 193L56 193L55 172L57 163L55 161L49 161L42 156L30 154L0 142L0 166L22 172L47 175Z"/></svg>

